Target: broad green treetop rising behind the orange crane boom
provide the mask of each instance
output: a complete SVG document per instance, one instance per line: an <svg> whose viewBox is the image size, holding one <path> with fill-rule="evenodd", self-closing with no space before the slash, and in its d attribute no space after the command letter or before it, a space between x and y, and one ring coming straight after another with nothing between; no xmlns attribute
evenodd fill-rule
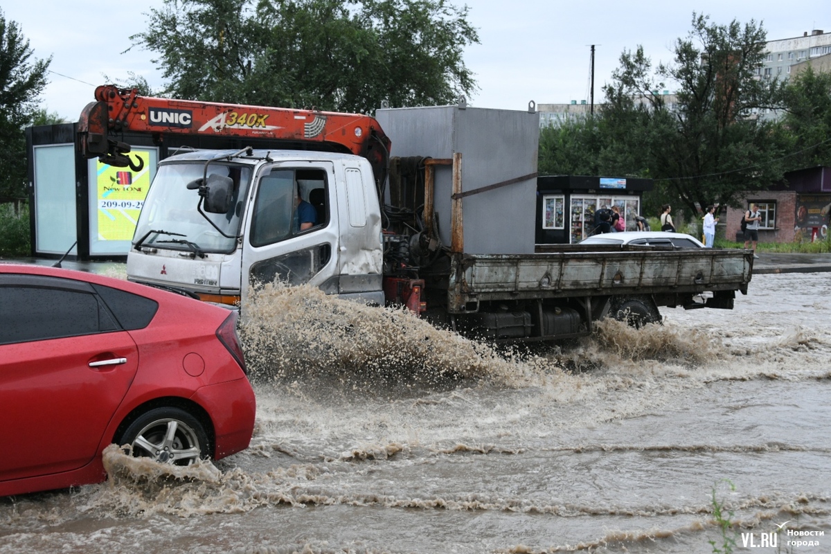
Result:
<svg viewBox="0 0 831 554"><path fill-rule="evenodd" d="M445 0L165 0L131 40L158 53L170 96L368 113L475 91L467 14Z"/></svg>

